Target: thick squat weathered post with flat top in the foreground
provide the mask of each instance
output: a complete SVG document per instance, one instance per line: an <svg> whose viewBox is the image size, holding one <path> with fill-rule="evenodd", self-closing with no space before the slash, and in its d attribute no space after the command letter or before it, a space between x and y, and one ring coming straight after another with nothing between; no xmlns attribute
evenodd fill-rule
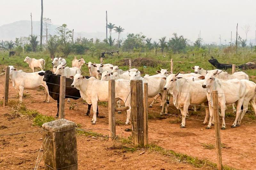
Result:
<svg viewBox="0 0 256 170"><path fill-rule="evenodd" d="M45 169L78 169L76 123L58 119L44 123L42 128Z"/></svg>

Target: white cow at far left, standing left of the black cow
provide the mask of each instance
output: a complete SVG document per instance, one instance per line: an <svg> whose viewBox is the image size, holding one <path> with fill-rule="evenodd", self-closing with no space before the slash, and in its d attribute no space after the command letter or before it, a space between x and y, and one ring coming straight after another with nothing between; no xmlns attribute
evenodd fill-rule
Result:
<svg viewBox="0 0 256 170"><path fill-rule="evenodd" d="M22 102L23 97L23 90L26 89L34 89L38 86L43 86L45 88L45 99L44 102L47 99L47 103L50 101L50 95L49 90L46 85L46 82L43 81L42 76L38 75L39 72L44 71L37 71L33 73L26 73L22 70L17 71L17 69L14 68L14 66L9 65L10 67L10 79L12 80L12 86L19 90L19 96L20 96L20 102ZM5 68L4 68L5 71Z"/></svg>

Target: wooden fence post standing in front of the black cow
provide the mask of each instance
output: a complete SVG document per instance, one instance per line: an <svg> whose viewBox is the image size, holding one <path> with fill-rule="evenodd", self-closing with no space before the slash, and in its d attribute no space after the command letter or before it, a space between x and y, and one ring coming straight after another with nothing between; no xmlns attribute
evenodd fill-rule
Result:
<svg viewBox="0 0 256 170"><path fill-rule="evenodd" d="M66 76L60 76L60 102L59 102L59 119L65 117L65 92L66 92Z"/></svg>

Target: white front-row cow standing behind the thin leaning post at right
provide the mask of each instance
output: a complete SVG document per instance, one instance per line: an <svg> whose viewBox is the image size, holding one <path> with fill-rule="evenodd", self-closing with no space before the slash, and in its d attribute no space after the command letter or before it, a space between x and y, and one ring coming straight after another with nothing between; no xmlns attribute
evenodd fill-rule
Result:
<svg viewBox="0 0 256 170"><path fill-rule="evenodd" d="M225 124L225 107L226 104L233 104L236 103L236 119L232 128L236 127L236 123L241 113L241 106L244 102L244 96L246 92L246 86L244 83L238 79L232 80L221 80L219 78L215 78L218 70L215 73L207 73L205 75L204 84L202 85L203 88L207 89L207 99L209 102L210 108L210 119L209 124L206 129L210 129L212 125L212 116L213 116L213 99L212 99L212 91L218 91L218 100L221 110L221 117L222 117L222 127L221 129L226 129Z"/></svg>

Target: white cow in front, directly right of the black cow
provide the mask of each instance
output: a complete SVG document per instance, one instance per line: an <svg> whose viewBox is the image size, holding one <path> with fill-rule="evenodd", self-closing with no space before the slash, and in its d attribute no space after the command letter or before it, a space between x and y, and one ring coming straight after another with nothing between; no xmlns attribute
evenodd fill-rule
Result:
<svg viewBox="0 0 256 170"><path fill-rule="evenodd" d="M96 123L96 111L98 101L108 102L108 81L92 80L91 78L86 79L81 74L76 74L71 87L75 87L80 90L81 97L88 103L92 104L93 117L92 124ZM125 124L129 123L131 114L131 87L130 82L124 79L119 79L115 82L116 84L116 98L121 99L125 106L128 106L127 118Z"/></svg>

